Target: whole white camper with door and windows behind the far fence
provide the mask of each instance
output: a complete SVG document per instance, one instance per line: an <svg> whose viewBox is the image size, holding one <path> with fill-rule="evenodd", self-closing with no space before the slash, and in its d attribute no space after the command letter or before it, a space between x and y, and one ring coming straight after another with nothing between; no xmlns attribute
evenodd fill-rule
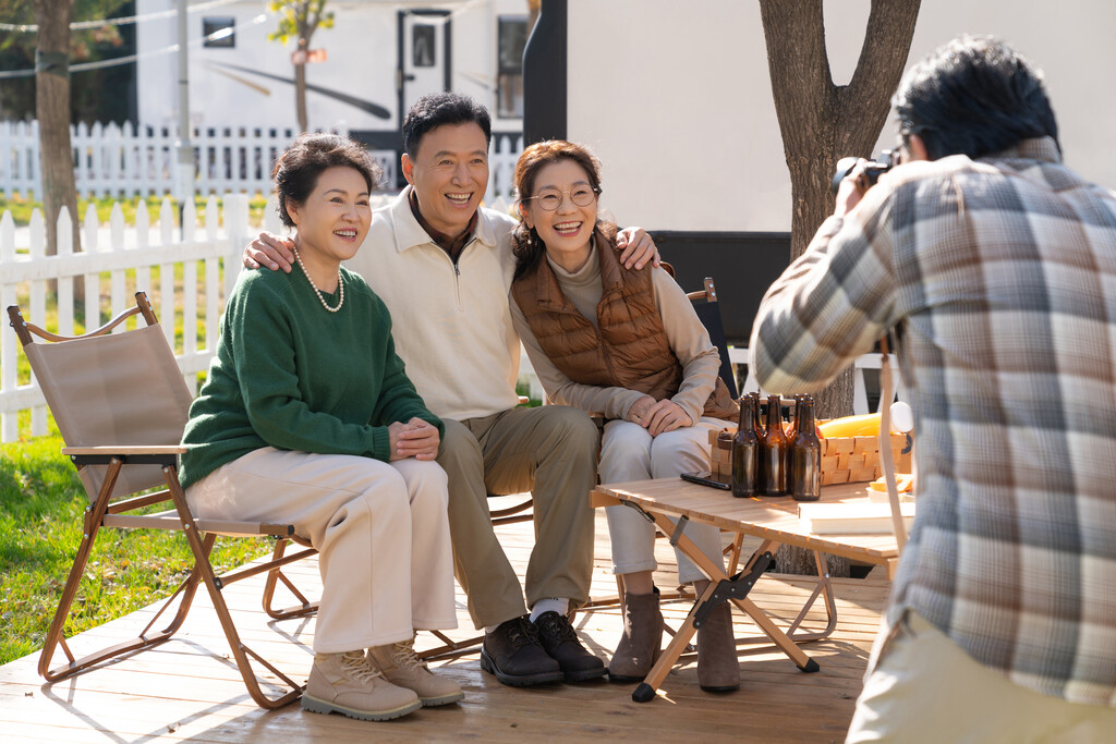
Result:
<svg viewBox="0 0 1116 744"><path fill-rule="evenodd" d="M174 0L137 0L147 16ZM519 133L527 0L330 0L333 28L306 54L311 128L344 127L369 148L402 147L400 126L422 95L458 90L485 104L493 129ZM177 21L137 31L140 124L173 127L179 116ZM189 15L190 117L212 129L292 128L297 46L268 40L277 16L261 0L205 2Z"/></svg>

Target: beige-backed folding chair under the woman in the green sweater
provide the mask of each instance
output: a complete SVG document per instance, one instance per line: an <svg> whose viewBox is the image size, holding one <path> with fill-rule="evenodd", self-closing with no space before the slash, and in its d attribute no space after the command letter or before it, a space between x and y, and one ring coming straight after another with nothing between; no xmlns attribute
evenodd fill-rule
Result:
<svg viewBox="0 0 1116 744"><path fill-rule="evenodd" d="M136 307L77 337L56 336L26 322L16 306L8 308L8 315L66 443L62 453L77 467L89 499L81 543L44 642L39 674L54 682L106 659L169 640L185 620L201 583L213 601L252 699L261 707L273 708L298 698L302 686L242 642L221 592L234 581L268 572L263 603L269 615L294 617L312 612L316 605L297 592L281 569L316 551L308 549L285 555L286 541L296 539L289 524L194 519L177 477L177 456L184 452L179 443L191 396L146 296L137 292ZM147 325L109 332L135 315L142 315ZM49 342L37 342L36 336ZM160 490L153 492L154 489ZM157 505L165 511L152 513ZM70 651L64 630L102 528L181 531L194 555L194 566L136 638L78 659ZM218 535L272 535L280 542L271 562L215 576L209 555ZM278 581L288 586L302 603L289 610L272 610L270 602ZM158 618L175 601L177 609L170 622L153 631ZM59 647L67 663L51 668L51 658ZM282 684L268 682L270 690L266 692L252 668L253 660ZM283 692L275 693L276 688Z"/></svg>

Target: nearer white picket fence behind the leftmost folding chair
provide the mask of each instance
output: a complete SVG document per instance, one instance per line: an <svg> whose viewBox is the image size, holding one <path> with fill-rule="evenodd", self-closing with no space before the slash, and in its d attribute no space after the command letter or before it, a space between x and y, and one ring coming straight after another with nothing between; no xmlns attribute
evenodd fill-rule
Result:
<svg viewBox="0 0 1116 744"><path fill-rule="evenodd" d="M25 318L46 326L48 307L57 310L57 326L47 329L64 336L74 335L74 281L85 283L85 327L107 322L123 312L137 290L147 292L167 341L191 392L196 392L198 373L204 371L213 356L218 318L228 290L235 281L240 254L251 234L248 226L248 196L227 194L223 214L215 196L210 196L202 226L192 202L183 213L185 229L174 226L174 210L169 200L158 207L157 223L141 204L134 226L125 225L119 204L115 204L108 224L100 224L90 206L83 222L84 252L75 253L69 214L58 218L57 255L45 255L46 224L36 210L29 226L29 245L16 245L16 225L9 212L0 216L0 307L17 301ZM223 220L220 218L223 216ZM152 281L152 269L158 274ZM57 296L48 297L48 280L58 280ZM200 298L200 300L199 300ZM204 303L200 319L199 301ZM181 306L181 310L176 310ZM177 318L176 318L177 316ZM175 339L175 320L181 318L183 337ZM0 332L0 442L19 438L20 412L30 409L30 434L47 433L47 409L35 379L19 378L22 355L16 334ZM118 327L117 330L123 330Z"/></svg>

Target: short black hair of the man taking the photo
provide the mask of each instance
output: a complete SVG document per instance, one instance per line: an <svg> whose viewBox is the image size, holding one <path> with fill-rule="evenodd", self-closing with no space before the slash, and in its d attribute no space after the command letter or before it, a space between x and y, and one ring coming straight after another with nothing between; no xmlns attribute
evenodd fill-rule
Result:
<svg viewBox="0 0 1116 744"><path fill-rule="evenodd" d="M907 71L893 103L903 142L918 135L931 160L1058 139L1041 70L993 37L963 36L939 48Z"/></svg>

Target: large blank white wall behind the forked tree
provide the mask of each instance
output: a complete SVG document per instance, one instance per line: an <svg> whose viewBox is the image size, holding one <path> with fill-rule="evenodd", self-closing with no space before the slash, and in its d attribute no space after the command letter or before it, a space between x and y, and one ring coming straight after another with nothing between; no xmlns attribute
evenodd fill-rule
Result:
<svg viewBox="0 0 1116 744"><path fill-rule="evenodd" d="M852 76L868 0L827 0L836 83ZM926 0L910 61L961 32L995 33L1047 73L1066 162L1116 187L1116 3ZM789 231L790 178L759 3L569 0L567 133L604 163L623 224ZM885 127L879 148L896 141Z"/></svg>

